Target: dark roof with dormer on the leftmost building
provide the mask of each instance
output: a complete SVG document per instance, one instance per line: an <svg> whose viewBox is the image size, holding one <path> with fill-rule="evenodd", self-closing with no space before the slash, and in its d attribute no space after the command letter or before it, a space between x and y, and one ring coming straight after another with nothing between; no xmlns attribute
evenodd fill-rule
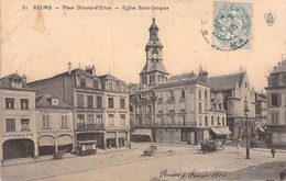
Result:
<svg viewBox="0 0 286 181"><path fill-rule="evenodd" d="M22 88L18 88L18 87L12 87L12 80L19 79L22 81L22 77L19 76L18 73L12 73L12 75L8 75L6 77L2 77L0 79L0 88L1 89L12 89L12 90L30 90L30 91L34 91L34 89L30 88L29 86L26 86L26 83L22 82Z"/></svg>

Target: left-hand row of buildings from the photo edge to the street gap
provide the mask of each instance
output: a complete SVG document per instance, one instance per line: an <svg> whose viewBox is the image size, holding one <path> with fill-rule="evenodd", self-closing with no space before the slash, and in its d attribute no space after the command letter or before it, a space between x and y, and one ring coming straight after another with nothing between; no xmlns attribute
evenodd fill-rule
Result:
<svg viewBox="0 0 286 181"><path fill-rule="evenodd" d="M95 72L69 64L68 71L30 83L16 73L1 78L1 160L76 151L88 140L102 149L128 146L127 83Z"/></svg>

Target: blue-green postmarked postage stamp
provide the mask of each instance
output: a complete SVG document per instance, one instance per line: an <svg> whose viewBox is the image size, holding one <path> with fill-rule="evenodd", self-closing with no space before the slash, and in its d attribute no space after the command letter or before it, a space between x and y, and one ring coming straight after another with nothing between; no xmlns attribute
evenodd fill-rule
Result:
<svg viewBox="0 0 286 181"><path fill-rule="evenodd" d="M219 49L250 49L252 4L215 2L213 42Z"/></svg>

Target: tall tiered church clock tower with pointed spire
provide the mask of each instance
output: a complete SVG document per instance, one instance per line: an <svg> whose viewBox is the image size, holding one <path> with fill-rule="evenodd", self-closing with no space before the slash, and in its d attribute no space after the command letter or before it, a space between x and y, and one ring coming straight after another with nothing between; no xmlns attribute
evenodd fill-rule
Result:
<svg viewBox="0 0 286 181"><path fill-rule="evenodd" d="M150 38L145 46L146 64L140 72L140 83L154 86L166 80L169 73L163 65L163 45L158 38L158 27L156 25L155 18L153 18L148 32Z"/></svg>

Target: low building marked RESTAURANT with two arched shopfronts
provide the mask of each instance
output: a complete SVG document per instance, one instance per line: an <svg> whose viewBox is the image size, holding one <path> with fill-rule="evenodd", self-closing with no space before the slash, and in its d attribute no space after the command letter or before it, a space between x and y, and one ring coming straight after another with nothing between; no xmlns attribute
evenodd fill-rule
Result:
<svg viewBox="0 0 286 181"><path fill-rule="evenodd" d="M74 144L73 106L48 94L36 97L38 155L72 151Z"/></svg>

